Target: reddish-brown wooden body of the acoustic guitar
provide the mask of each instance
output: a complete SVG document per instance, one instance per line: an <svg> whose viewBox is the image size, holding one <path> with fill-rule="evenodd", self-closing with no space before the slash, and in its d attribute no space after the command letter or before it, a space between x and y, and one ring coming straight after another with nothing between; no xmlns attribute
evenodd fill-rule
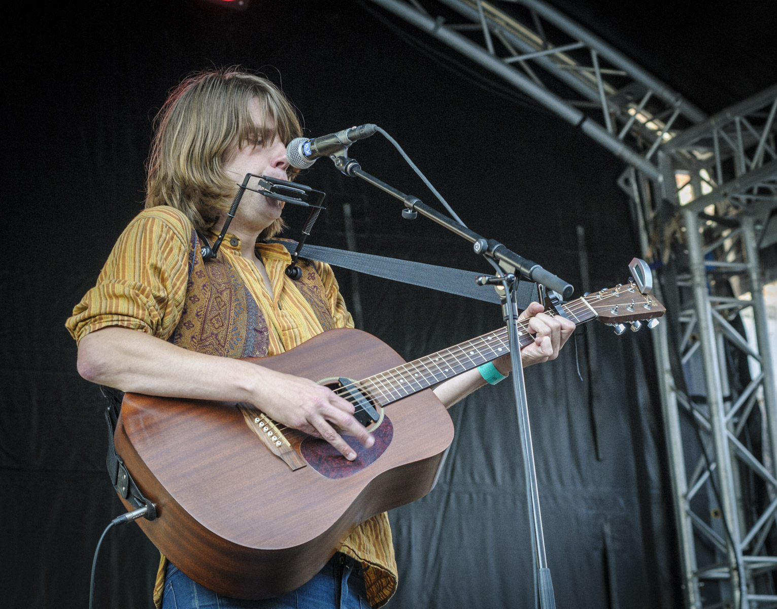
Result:
<svg viewBox="0 0 777 609"><path fill-rule="evenodd" d="M367 378L403 364L381 340L354 329L249 361L316 382ZM127 394L115 444L157 506L156 520L138 524L162 554L211 590L262 599L312 579L364 520L426 495L453 424L425 389L387 405L373 433L371 457L362 461L366 451L354 445L354 464L326 454L322 440L292 443L311 460L292 471L249 429L235 402Z"/></svg>

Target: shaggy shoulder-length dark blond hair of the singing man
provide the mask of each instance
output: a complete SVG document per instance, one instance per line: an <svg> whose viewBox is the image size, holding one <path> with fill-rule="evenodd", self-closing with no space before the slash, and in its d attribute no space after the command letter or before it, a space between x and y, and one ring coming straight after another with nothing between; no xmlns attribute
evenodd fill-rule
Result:
<svg viewBox="0 0 777 609"><path fill-rule="evenodd" d="M275 124L274 132L267 128L267 120L254 123L249 111L254 98L262 116ZM235 146L270 143L274 135L288 144L302 131L280 89L267 78L234 67L198 72L183 80L154 124L145 207L176 207L200 231L210 228L235 197L235 181L224 172L225 158ZM278 218L260 239L277 235L283 227Z"/></svg>

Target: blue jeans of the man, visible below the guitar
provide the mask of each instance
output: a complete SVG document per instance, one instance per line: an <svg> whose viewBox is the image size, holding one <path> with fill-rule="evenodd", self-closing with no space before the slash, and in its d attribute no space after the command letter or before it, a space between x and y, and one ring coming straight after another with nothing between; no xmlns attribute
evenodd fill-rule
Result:
<svg viewBox="0 0 777 609"><path fill-rule="evenodd" d="M162 609L369 609L361 563L337 552L308 583L280 597L240 600L208 590L169 562Z"/></svg>

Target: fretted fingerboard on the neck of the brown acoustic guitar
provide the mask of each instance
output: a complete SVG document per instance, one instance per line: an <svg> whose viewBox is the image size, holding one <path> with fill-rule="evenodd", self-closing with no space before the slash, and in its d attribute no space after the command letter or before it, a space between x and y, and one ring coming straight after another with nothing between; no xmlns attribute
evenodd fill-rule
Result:
<svg viewBox="0 0 777 609"><path fill-rule="evenodd" d="M577 324L598 316L585 298L577 298L561 305L561 308L564 315ZM534 336L528 332L528 323L528 320L523 320L517 324L521 349L534 342ZM507 328L501 328L364 378L357 381L357 385L366 389L382 405L388 405L507 353L510 353Z"/></svg>

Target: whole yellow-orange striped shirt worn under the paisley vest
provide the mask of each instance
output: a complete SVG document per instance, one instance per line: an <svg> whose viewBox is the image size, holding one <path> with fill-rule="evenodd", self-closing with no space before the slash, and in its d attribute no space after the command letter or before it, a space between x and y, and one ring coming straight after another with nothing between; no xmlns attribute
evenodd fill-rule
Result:
<svg viewBox="0 0 777 609"><path fill-rule="evenodd" d="M192 224L173 207L152 207L141 211L127 226L110 253L97 284L73 309L66 327L76 341L89 332L118 325L169 339L183 312L188 280L188 259ZM211 240L211 243L213 241ZM267 355L284 353L323 331L308 302L284 270L291 256L283 245L259 243L273 294L253 261L240 254L240 241L226 235L221 251L253 295L267 320L270 345ZM329 265L315 263L325 287L336 327L353 328L354 321ZM360 560L366 569L368 602L381 607L394 593L397 569L389 519L385 513L367 520L343 541L340 552ZM154 590L157 607L162 606L164 568L162 556Z"/></svg>

